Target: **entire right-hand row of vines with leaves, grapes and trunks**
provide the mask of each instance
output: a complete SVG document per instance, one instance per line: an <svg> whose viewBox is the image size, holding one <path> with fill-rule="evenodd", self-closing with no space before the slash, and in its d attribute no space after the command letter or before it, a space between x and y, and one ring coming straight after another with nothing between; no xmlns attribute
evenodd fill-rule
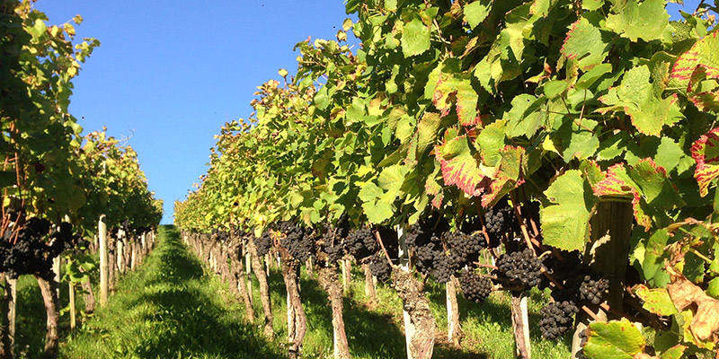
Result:
<svg viewBox="0 0 719 359"><path fill-rule="evenodd" d="M227 255L259 269L277 251L299 323L290 353L307 263L333 306L335 356L349 357L345 256L402 298L411 358L435 341L426 276L471 300L510 292L521 357L535 286L553 298L543 336L573 333L575 357L715 351L716 3L674 21L665 0L346 6L357 22L298 43L297 74L258 88L175 204L187 241L225 233L202 238L244 243Z"/></svg>

